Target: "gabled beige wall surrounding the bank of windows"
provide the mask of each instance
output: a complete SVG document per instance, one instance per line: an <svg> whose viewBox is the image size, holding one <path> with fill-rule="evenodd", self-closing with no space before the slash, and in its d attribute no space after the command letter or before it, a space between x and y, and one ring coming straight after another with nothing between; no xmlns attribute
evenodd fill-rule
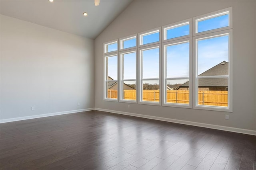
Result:
<svg viewBox="0 0 256 170"><path fill-rule="evenodd" d="M135 0L94 42L95 107L256 130L254 0ZM233 6L233 113L103 101L103 43ZM225 120L225 114L230 115Z"/></svg>

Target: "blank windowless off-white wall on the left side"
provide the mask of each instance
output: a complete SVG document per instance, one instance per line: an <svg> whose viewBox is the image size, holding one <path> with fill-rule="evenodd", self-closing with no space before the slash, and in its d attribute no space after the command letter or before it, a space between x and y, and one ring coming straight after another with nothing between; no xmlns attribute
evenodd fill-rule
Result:
<svg viewBox="0 0 256 170"><path fill-rule="evenodd" d="M94 40L0 19L1 120L94 107Z"/></svg>

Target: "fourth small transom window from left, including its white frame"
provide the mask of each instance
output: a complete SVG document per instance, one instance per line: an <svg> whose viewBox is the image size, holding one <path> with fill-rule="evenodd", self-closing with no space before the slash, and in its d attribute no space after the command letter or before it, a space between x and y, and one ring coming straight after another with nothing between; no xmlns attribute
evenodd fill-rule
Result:
<svg viewBox="0 0 256 170"><path fill-rule="evenodd" d="M164 26L163 41L186 38L191 36L190 22L191 20L186 20L179 23Z"/></svg>

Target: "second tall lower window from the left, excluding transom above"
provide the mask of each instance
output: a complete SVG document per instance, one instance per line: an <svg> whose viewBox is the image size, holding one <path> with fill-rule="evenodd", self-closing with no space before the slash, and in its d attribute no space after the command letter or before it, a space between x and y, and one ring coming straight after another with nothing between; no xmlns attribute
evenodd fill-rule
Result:
<svg viewBox="0 0 256 170"><path fill-rule="evenodd" d="M121 57L121 100L136 102L137 99L137 69L136 51L126 51L120 53Z"/></svg>

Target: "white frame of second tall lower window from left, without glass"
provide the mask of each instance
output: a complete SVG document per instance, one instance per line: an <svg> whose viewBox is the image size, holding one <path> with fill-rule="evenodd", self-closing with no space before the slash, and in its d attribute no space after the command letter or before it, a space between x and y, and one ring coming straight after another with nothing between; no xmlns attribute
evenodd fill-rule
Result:
<svg viewBox="0 0 256 170"><path fill-rule="evenodd" d="M136 53L136 79L123 79L123 73L124 73L124 69L123 69L123 54L127 54L127 53L132 53L132 52L135 52ZM120 102L124 102L124 103L138 103L138 50L137 48L136 49L130 49L130 50L126 50L126 51L120 51L119 52L119 56L120 56L120 77L119 77L119 89L120 89L120 93L119 93L119 101ZM123 99L123 82L124 81L136 81L136 100L125 100Z"/></svg>

